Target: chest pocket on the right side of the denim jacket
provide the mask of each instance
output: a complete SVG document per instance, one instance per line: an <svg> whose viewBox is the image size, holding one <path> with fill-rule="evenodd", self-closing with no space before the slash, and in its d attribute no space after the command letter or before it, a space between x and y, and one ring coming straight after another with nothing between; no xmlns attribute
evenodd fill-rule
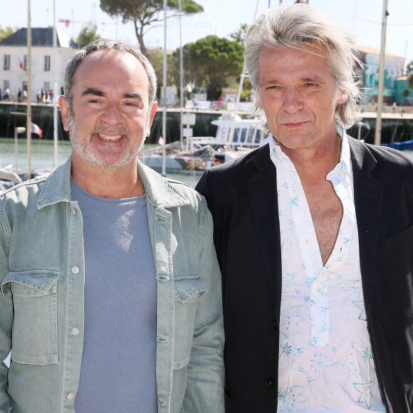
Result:
<svg viewBox="0 0 413 413"><path fill-rule="evenodd" d="M174 370L188 365L199 299L207 293L204 280L198 275L174 278L175 345Z"/></svg>

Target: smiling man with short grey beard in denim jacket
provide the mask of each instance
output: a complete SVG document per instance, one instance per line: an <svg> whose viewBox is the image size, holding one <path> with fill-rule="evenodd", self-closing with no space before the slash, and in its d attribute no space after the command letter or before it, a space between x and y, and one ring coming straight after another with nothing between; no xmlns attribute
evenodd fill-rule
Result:
<svg viewBox="0 0 413 413"><path fill-rule="evenodd" d="M76 52L71 157L0 198L0 412L224 412L211 215L138 160L156 89L134 46Z"/></svg>

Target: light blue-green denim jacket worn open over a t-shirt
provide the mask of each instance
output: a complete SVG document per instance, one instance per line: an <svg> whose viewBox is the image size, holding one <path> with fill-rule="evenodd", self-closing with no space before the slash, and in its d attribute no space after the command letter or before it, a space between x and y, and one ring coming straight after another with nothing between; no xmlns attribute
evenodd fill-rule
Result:
<svg viewBox="0 0 413 413"><path fill-rule="evenodd" d="M75 412L83 349L82 214L71 159L0 198L0 412ZM206 203L139 164L157 275L160 413L224 412L221 277ZM116 288L108 280L108 288ZM137 407L137 411L139 407Z"/></svg>

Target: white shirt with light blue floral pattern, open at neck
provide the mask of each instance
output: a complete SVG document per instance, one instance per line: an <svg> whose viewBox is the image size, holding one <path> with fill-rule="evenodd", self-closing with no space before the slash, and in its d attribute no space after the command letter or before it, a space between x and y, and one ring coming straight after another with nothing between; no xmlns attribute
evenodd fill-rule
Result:
<svg viewBox="0 0 413 413"><path fill-rule="evenodd" d="M307 199L291 160L273 139L281 229L282 298L278 412L385 412L377 384L360 273L350 146L326 179L343 220L323 266Z"/></svg>

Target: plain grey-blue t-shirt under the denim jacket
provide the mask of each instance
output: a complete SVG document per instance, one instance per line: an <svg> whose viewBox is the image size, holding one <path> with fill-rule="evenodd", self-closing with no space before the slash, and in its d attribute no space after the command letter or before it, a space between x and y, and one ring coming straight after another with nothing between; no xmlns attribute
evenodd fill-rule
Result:
<svg viewBox="0 0 413 413"><path fill-rule="evenodd" d="M106 199L71 181L83 216L85 338L76 413L155 413L155 264L146 197Z"/></svg>

